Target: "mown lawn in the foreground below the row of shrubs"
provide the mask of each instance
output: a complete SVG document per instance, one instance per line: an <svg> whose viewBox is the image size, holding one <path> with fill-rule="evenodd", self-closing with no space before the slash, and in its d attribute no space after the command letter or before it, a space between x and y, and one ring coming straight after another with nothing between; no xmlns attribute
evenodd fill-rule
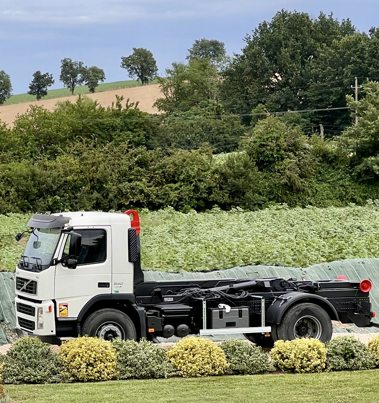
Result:
<svg viewBox="0 0 379 403"><path fill-rule="evenodd" d="M379 371L8 385L18 403L373 403Z"/></svg>

